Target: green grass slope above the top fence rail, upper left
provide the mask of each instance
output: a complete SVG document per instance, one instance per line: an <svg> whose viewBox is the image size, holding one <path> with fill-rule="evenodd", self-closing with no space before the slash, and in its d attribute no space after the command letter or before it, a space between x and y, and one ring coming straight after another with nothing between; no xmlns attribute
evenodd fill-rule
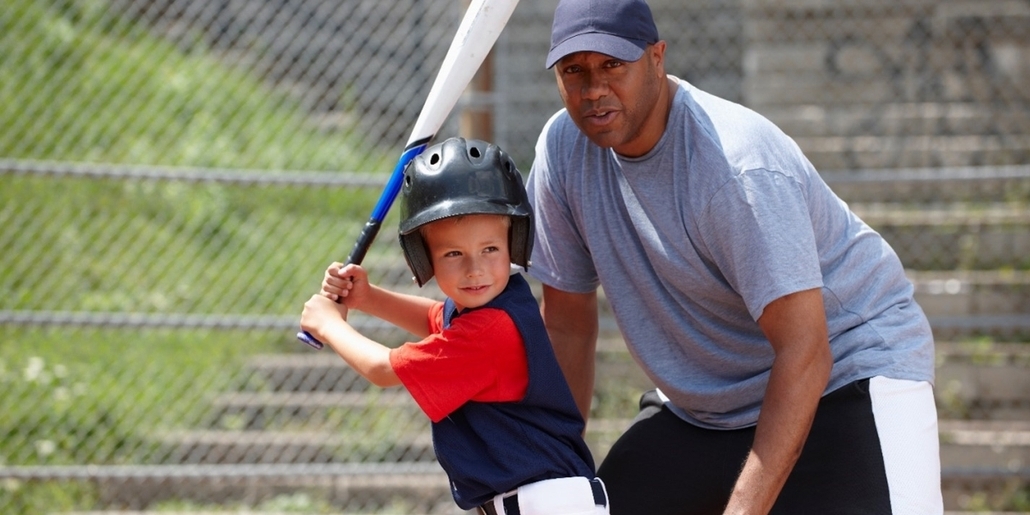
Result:
<svg viewBox="0 0 1030 515"><path fill-rule="evenodd" d="M220 168L381 169L351 130L103 1L7 0L0 12L0 156ZM370 151L371 150L371 151Z"/></svg>

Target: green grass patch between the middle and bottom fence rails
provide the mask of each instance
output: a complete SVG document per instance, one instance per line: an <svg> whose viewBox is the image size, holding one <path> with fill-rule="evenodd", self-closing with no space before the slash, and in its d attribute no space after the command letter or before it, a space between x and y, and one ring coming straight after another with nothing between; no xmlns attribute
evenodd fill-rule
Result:
<svg viewBox="0 0 1030 515"><path fill-rule="evenodd" d="M191 427L267 333L0 329L0 465L160 462L146 436ZM197 387L201 386L201 387ZM0 505L2 506L2 505Z"/></svg>

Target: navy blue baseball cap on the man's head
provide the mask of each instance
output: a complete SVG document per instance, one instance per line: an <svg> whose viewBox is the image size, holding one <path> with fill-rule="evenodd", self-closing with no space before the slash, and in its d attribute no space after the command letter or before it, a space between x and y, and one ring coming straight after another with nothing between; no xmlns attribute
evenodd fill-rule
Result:
<svg viewBox="0 0 1030 515"><path fill-rule="evenodd" d="M561 0L554 10L547 68L577 52L633 62L656 42L658 29L644 0Z"/></svg>

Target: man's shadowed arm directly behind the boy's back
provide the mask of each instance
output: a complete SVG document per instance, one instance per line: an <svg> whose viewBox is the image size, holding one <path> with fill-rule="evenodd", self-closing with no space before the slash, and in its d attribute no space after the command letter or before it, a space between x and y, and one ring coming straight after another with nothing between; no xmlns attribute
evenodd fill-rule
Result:
<svg viewBox="0 0 1030 515"><path fill-rule="evenodd" d="M597 352L597 293L571 294L544 285L541 306L554 355L583 419L590 415Z"/></svg>

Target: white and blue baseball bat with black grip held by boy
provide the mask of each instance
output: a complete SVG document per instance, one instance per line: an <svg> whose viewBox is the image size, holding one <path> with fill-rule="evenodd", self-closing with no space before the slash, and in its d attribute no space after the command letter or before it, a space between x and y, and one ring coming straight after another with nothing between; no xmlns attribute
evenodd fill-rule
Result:
<svg viewBox="0 0 1030 515"><path fill-rule="evenodd" d="M393 172L386 181L386 186L379 196L379 201L376 202L369 221L365 224L350 255L347 256L348 264L362 264L366 252L382 227L386 213L393 205L393 200L401 192L404 169L411 160L422 153L422 150L436 136L437 131L443 126L444 121L457 104L458 98L461 97L461 93L472 81L472 77L479 70L479 66L483 64L490 48L493 47L494 41L497 40L501 31L508 24L508 19L511 18L517 4L518 0L472 0L469 4L469 8L461 19L461 24L458 25L457 32L454 34L454 39L451 40L450 47L447 48L447 55L440 66L440 71L433 81L430 95L425 98L425 103L422 104L422 110L418 114L418 119L415 121L415 126L411 130L411 136L404 146L404 151L401 152L401 158L398 160L397 166L393 167ZM297 339L316 349L324 346L306 331L298 333Z"/></svg>

